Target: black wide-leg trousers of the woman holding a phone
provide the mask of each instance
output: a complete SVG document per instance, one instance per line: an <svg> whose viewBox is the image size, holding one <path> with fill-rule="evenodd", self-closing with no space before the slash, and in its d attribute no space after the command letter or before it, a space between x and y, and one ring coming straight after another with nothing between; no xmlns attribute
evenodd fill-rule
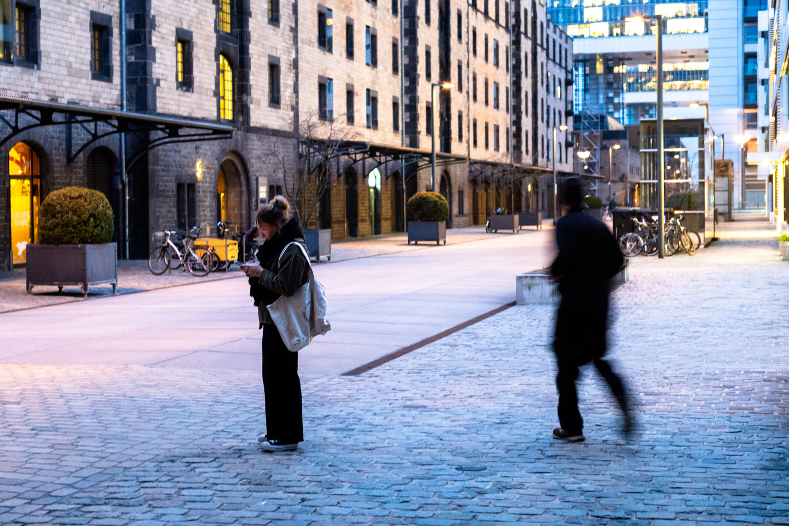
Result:
<svg viewBox="0 0 789 526"><path fill-rule="evenodd" d="M304 441L298 353L291 353L274 324L263 326L263 390L266 435L282 444Z"/></svg>

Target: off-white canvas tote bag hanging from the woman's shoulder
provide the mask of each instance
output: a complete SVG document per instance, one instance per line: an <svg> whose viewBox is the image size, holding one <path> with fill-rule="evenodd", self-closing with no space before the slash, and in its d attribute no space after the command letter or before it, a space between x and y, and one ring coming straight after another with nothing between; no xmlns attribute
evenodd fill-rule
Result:
<svg viewBox="0 0 789 526"><path fill-rule="evenodd" d="M326 289L312 274L312 263L304 248L297 241L291 241L282 248L279 259L291 244L301 248L309 265L309 278L304 285L296 290L293 296L280 296L271 305L267 305L268 313L274 321L282 342L292 353L304 349L312 338L318 334L326 334L331 325L326 319Z"/></svg>

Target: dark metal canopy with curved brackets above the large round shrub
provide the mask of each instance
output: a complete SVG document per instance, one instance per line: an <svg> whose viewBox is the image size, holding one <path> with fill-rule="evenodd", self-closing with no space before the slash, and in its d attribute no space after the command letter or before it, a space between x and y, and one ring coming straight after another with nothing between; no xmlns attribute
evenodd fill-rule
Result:
<svg viewBox="0 0 789 526"><path fill-rule="evenodd" d="M8 115L13 112L13 115ZM8 126L10 132L0 136L0 147L14 137L30 129L41 126L69 125L69 136L66 148L66 162L73 162L85 148L95 141L116 133L147 133L159 134L148 139L146 146L129 159L128 166L154 147L172 143L191 143L204 140L227 139L233 134L233 126L213 121L199 121L186 118L168 117L158 114L136 114L120 110L106 110L92 106L76 104L50 103L34 99L0 96L0 121ZM32 122L31 122L32 121ZM77 151L71 151L70 130L73 125L79 126L88 134L86 140ZM99 129L99 125L104 125Z"/></svg>

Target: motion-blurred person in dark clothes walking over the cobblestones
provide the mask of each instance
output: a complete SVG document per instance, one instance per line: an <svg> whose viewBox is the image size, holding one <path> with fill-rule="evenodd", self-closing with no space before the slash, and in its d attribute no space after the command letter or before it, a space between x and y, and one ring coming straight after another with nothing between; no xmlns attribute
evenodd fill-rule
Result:
<svg viewBox="0 0 789 526"><path fill-rule="evenodd" d="M553 344L559 366L556 388L561 427L553 430L553 438L583 442L584 420L578 411L575 381L578 367L590 361L619 401L625 416L623 431L629 434L633 425L622 381L603 360L609 282L622 267L623 258L608 226L584 213L581 181L575 177L567 179L563 190L564 203L570 211L556 223L559 255L551 267L562 294Z"/></svg>

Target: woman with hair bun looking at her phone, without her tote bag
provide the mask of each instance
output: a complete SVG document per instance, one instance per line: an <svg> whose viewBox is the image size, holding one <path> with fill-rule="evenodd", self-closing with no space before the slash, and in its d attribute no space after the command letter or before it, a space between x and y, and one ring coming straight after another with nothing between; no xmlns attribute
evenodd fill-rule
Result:
<svg viewBox="0 0 789 526"><path fill-rule="evenodd" d="M301 248L305 244L296 218L288 218L290 206L283 196L275 196L257 211L256 223L264 243L257 251L259 265L241 265L255 292L258 319L263 328L263 390L266 397L266 432L257 441L264 451L296 450L304 441L301 421L301 382L298 353L282 342L267 305L281 295L293 296L309 279L309 262ZM305 247L306 248L306 247Z"/></svg>

